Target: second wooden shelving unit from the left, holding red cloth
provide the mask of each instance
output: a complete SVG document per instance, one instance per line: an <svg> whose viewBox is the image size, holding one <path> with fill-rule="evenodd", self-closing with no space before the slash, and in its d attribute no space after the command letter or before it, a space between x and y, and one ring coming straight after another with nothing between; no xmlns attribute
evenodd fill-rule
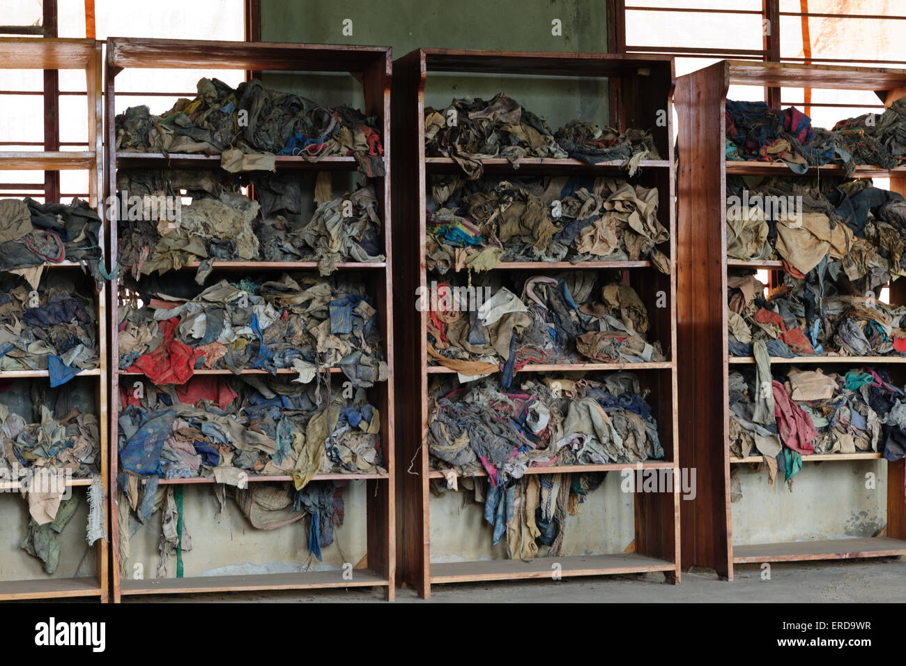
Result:
<svg viewBox="0 0 906 666"><path fill-rule="evenodd" d="M367 568L356 569L353 580L342 578L342 571L313 571L297 574L218 575L186 578L159 578L146 580L125 580L120 578L120 549L117 521L112 525L112 588L113 600L120 601L123 594L178 594L199 592L226 592L237 590L287 590L331 587L382 587L388 599L395 590L395 488L394 488L394 429L393 429L393 332L391 329L392 265L391 265L391 224L390 224L390 48L379 46L336 46L294 43L248 43L215 42L198 40L127 39L113 37L107 43L105 72L106 122L107 122L107 192L116 192L117 169L121 168L181 168L219 169L220 156L159 153L113 153L115 146L115 99L114 83L123 69L199 69L199 70L246 70L249 72L350 72L361 82L365 100L365 113L381 119L381 142L384 147L386 176L370 179L375 188L382 217L385 262L360 264L345 262L337 264L337 275L350 272L370 275L369 288L375 296L379 310L379 324L387 355L389 379L378 382L369 390L371 401L381 412L381 451L387 474L352 475L322 474L315 480L366 479L367 486ZM276 158L278 171L284 170L343 170L354 171L356 161L352 157L327 157L313 163L300 157ZM111 265L117 265L117 224L111 220ZM185 266L195 270L198 264ZM259 262L259 261L216 261L215 272L246 271L310 271L316 274L315 262ZM111 345L118 350L116 312L117 294L111 290ZM112 367L119 368L117 362ZM264 371L244 370L242 374L262 374ZM290 374L293 371L278 371ZM330 372L342 372L332 368ZM232 375L226 370L196 371L198 375ZM111 379L111 400L116 409L111 410L111 441L118 440L117 417L119 415L120 377L133 377L136 372L113 372ZM115 450L116 447L114 446ZM111 458L111 507L117 512L120 491L117 487L118 459ZM249 476L250 482L291 481L290 477ZM161 479L161 484L210 484L213 479Z"/></svg>

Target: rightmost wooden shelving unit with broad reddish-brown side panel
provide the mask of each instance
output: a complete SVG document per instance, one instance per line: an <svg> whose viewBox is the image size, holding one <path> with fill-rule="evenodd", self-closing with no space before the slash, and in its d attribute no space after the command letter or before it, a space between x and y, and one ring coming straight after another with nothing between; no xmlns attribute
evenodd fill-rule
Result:
<svg viewBox="0 0 906 666"><path fill-rule="evenodd" d="M728 85L784 88L826 88L877 92L888 105L906 94L906 72L864 67L723 61L680 76L675 102L679 115L679 413L683 433L680 463L698 469L698 495L682 503L682 565L714 568L733 578L733 565L754 562L844 559L906 555L906 503L903 460L887 464L886 536L862 539L797 541L781 544L733 545L730 510L731 465L749 458L731 458L728 374L731 367L753 363L728 352L727 271L734 267L783 270L781 261L738 261L727 257L727 176L795 176L785 164L727 161L724 120ZM806 177L843 176L843 168L808 169ZM890 178L891 189L906 194L906 168L861 166L855 178ZM694 295L693 295L694 294ZM906 303L906 284L891 285L891 302ZM772 363L803 363L809 367L884 364L893 380L906 381L901 357L814 356L772 358ZM803 462L841 462L881 458L879 454L803 456ZM760 457L757 461L760 461ZM743 500L745 502L745 498Z"/></svg>

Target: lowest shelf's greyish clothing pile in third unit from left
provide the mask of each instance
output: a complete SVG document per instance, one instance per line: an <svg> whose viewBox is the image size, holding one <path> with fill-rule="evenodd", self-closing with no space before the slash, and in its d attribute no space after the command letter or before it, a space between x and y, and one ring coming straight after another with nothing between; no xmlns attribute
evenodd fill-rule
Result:
<svg viewBox="0 0 906 666"><path fill-rule="evenodd" d="M530 467L664 456L648 391L631 372L601 381L539 376L518 390L492 379L450 389L441 381L429 391L428 447L451 486L482 469L499 487Z"/></svg>

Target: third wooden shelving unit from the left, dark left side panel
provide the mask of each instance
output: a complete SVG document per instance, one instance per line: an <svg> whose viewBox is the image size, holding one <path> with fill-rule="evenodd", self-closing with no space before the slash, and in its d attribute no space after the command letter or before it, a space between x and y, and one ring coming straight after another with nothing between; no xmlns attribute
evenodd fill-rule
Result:
<svg viewBox="0 0 906 666"><path fill-rule="evenodd" d="M440 476L429 470L428 382L429 376L449 372L446 368L429 366L427 344L428 313L417 314L414 308L416 289L428 284L426 248L427 178L429 174L456 172L452 159L425 157L424 92L429 72L462 72L471 74L516 74L524 77L571 76L607 78L611 88L611 124L621 130L651 128L661 156L666 159L642 163L636 176L646 187L657 187L660 193L659 216L670 230L670 255L674 247L674 188L673 145L670 125L655 123L655 113L666 111L672 123L671 92L673 68L669 58L621 56L601 53L507 53L421 49L413 51L394 63L393 123L394 137L394 203L401 224L395 234L394 256L400 266L396 279L396 333L401 349L397 395L400 418L397 468L400 474L398 502L400 539L397 559L400 582L413 585L419 596L429 597L431 584L466 581L549 578L554 561L562 565L565 575L627 574L661 571L679 582L679 490L673 493L636 493L634 499L635 547L633 553L556 558L535 558L532 562L519 559L432 563L430 543L429 479ZM504 91L506 92L506 91ZM451 97L455 95L451 94ZM615 101L615 103L614 103ZM597 119L590 119L597 120ZM602 119L604 120L604 119ZM593 166L575 159L522 159L519 169L506 159L487 159L485 173L494 175L610 175L626 178L622 165L604 162ZM650 401L658 420L660 440L665 458L642 463L643 468L669 468L678 472L677 413L676 413L676 281L670 275L657 272L647 261L641 262L525 262L497 265L495 270L555 271L555 270L619 270L639 292L660 335L668 362L661 363L587 363L536 364L525 366L522 372L599 372L638 371L640 381L651 389ZM654 306L656 291L670 294L670 305ZM516 381L520 376L516 377ZM528 473L594 471L634 468L626 465L581 465L563 468L529 468ZM407 471L409 470L409 471Z"/></svg>

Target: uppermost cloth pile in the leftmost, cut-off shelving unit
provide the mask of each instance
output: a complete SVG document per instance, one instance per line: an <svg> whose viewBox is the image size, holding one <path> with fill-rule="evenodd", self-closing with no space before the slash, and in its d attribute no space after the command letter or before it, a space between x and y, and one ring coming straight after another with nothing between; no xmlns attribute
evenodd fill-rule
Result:
<svg viewBox="0 0 906 666"><path fill-rule="evenodd" d="M23 275L35 287L44 264L71 261L82 265L100 291L106 279L100 235L101 217L82 199L68 206L0 199L0 270Z"/></svg>

